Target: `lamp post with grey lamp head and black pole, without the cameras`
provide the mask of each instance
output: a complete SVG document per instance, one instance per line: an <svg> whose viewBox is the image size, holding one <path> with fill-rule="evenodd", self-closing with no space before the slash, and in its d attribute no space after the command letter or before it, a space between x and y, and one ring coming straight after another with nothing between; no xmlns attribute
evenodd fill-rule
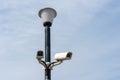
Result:
<svg viewBox="0 0 120 80"><path fill-rule="evenodd" d="M47 63L51 62L50 27L56 15L56 11L52 8L44 8L39 11L39 16L42 18L45 27L45 62ZM45 69L45 80L51 80L51 70L49 68Z"/></svg>

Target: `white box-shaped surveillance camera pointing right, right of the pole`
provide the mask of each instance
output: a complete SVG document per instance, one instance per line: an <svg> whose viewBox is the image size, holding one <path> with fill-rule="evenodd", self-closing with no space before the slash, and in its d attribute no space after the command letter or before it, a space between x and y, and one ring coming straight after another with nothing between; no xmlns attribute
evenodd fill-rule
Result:
<svg viewBox="0 0 120 80"><path fill-rule="evenodd" d="M70 60L72 58L72 52L64 52L55 54L54 59L60 60Z"/></svg>

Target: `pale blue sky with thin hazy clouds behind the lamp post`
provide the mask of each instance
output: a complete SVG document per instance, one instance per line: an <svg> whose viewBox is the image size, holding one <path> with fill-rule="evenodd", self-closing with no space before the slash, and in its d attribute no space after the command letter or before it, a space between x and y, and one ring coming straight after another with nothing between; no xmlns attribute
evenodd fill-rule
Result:
<svg viewBox="0 0 120 80"><path fill-rule="evenodd" d="M52 7L52 58L72 51L53 80L120 80L119 0L0 0L0 80L43 80L36 52L44 50L38 11ZM52 59L52 61L54 61Z"/></svg>

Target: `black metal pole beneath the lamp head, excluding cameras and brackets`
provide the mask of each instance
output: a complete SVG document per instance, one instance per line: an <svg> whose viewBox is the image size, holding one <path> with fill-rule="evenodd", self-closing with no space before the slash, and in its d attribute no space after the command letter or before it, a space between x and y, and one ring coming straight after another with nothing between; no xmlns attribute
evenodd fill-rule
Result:
<svg viewBox="0 0 120 80"><path fill-rule="evenodd" d="M51 62L51 50L50 50L50 27L45 26L45 62ZM51 70L45 69L45 80L51 80Z"/></svg>

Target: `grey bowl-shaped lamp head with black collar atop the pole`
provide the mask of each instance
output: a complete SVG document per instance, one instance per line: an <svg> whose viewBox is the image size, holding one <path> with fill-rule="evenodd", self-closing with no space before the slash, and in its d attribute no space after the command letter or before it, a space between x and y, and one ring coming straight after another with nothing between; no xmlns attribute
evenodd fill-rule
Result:
<svg viewBox="0 0 120 80"><path fill-rule="evenodd" d="M39 11L39 17L43 21L43 25L50 27L53 19L56 17L57 12L52 8L44 8Z"/></svg>

